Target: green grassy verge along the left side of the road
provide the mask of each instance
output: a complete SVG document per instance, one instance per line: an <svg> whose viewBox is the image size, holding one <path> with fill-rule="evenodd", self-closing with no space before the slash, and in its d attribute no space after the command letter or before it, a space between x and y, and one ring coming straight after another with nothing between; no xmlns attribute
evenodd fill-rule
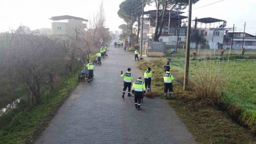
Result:
<svg viewBox="0 0 256 144"><path fill-rule="evenodd" d="M12 117L11 122L1 126L0 143L32 143L35 137L44 129L44 126L52 119L57 109L69 96L78 84L77 73L64 76L53 91L47 91L42 95L41 105L36 105L31 110L22 109L22 103L0 117L0 122ZM24 103L23 103L24 104Z"/></svg>

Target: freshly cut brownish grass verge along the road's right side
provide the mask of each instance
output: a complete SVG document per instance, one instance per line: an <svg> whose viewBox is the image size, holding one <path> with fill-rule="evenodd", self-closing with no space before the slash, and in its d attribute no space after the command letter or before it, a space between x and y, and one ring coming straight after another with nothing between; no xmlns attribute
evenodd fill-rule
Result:
<svg viewBox="0 0 256 144"><path fill-rule="evenodd" d="M155 69L152 91L155 95L163 98L162 64L166 58L156 61L140 61L139 68L143 71L150 66ZM184 75L184 60L173 59L171 62L173 73L178 82ZM191 64L193 65L193 63ZM191 71L192 68L191 68ZM199 143L255 143L256 137L249 130L231 120L217 107L208 105L205 101L199 101L191 91L183 91L181 85L174 82L174 99L167 100L182 122L195 136Z"/></svg>

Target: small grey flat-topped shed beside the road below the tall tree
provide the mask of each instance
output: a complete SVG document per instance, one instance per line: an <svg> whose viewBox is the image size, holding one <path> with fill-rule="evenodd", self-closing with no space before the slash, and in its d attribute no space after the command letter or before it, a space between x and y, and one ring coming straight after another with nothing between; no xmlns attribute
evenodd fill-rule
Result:
<svg viewBox="0 0 256 144"><path fill-rule="evenodd" d="M166 43L165 42L155 42L155 41L145 41L143 53L147 57L166 56Z"/></svg>

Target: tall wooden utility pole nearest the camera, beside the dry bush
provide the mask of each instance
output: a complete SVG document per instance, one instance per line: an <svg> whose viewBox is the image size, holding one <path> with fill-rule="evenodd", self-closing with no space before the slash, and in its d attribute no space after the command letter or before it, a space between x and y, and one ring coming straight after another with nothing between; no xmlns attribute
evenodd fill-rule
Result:
<svg viewBox="0 0 256 144"><path fill-rule="evenodd" d="M188 90L188 70L189 70L189 52L190 52L190 33L191 33L191 16L192 16L192 3L188 1L188 28L187 28L187 43L186 43L186 58L184 70L184 84L183 90Z"/></svg>

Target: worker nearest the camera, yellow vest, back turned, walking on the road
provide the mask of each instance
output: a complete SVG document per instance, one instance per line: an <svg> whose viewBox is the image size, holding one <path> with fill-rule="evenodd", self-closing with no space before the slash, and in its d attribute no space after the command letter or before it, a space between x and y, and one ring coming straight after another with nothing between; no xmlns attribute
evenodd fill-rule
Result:
<svg viewBox="0 0 256 144"><path fill-rule="evenodd" d="M138 77L138 79L133 82L132 84L132 93L134 94L134 101L135 101L135 108L140 110L140 101L142 99L142 95L145 94L146 87L145 83L142 82L141 77Z"/></svg>

